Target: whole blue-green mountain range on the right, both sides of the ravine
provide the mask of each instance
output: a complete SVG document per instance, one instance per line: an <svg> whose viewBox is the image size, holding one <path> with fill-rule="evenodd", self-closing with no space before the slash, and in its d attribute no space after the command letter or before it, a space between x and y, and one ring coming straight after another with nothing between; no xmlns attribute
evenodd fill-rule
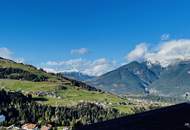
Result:
<svg viewBox="0 0 190 130"><path fill-rule="evenodd" d="M116 94L190 95L190 62L166 68L159 64L136 61L108 72L89 82L92 86Z"/></svg>

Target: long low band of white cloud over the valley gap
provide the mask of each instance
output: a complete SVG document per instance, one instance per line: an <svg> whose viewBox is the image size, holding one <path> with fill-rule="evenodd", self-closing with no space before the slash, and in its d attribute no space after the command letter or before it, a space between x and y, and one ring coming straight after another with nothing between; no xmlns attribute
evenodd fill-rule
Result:
<svg viewBox="0 0 190 130"><path fill-rule="evenodd" d="M43 65L44 70L48 72L68 72L80 71L84 74L100 76L106 72L115 69L116 62L105 58L94 61L85 59L71 59L65 61L49 61Z"/></svg>

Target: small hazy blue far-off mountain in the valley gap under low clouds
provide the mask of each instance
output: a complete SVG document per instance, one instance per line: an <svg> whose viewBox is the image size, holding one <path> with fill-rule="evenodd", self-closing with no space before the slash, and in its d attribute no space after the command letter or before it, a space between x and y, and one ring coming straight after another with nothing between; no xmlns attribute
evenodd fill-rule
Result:
<svg viewBox="0 0 190 130"><path fill-rule="evenodd" d="M75 79L78 81L88 81L88 80L92 80L93 78L95 78L95 76L90 76L87 74L83 74L81 72L63 72L62 74L65 77Z"/></svg>

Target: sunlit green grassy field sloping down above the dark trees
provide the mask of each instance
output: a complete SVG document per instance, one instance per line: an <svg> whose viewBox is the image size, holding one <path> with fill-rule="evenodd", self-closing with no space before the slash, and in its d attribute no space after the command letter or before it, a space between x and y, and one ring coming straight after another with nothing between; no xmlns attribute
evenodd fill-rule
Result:
<svg viewBox="0 0 190 130"><path fill-rule="evenodd" d="M119 102L127 102L126 99L104 92L87 91L74 86L65 86L64 90L57 89L59 82L31 82L20 80L0 79L0 87L11 91L29 92L55 92L56 97L52 96L33 96L34 98L44 98L38 101L41 104L52 106L74 106L80 102L94 102L105 104L108 107L116 108L124 113L132 113L130 106L120 106Z"/></svg>

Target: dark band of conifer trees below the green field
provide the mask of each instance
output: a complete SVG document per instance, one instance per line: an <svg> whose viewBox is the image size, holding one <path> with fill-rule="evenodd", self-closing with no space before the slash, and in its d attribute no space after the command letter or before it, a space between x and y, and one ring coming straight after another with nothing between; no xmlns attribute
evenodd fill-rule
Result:
<svg viewBox="0 0 190 130"><path fill-rule="evenodd" d="M0 114L5 115L3 125L21 121L54 126L75 126L101 122L120 116L116 109L104 108L93 103L80 103L73 107L48 106L34 102L32 96L19 92L0 90Z"/></svg>

